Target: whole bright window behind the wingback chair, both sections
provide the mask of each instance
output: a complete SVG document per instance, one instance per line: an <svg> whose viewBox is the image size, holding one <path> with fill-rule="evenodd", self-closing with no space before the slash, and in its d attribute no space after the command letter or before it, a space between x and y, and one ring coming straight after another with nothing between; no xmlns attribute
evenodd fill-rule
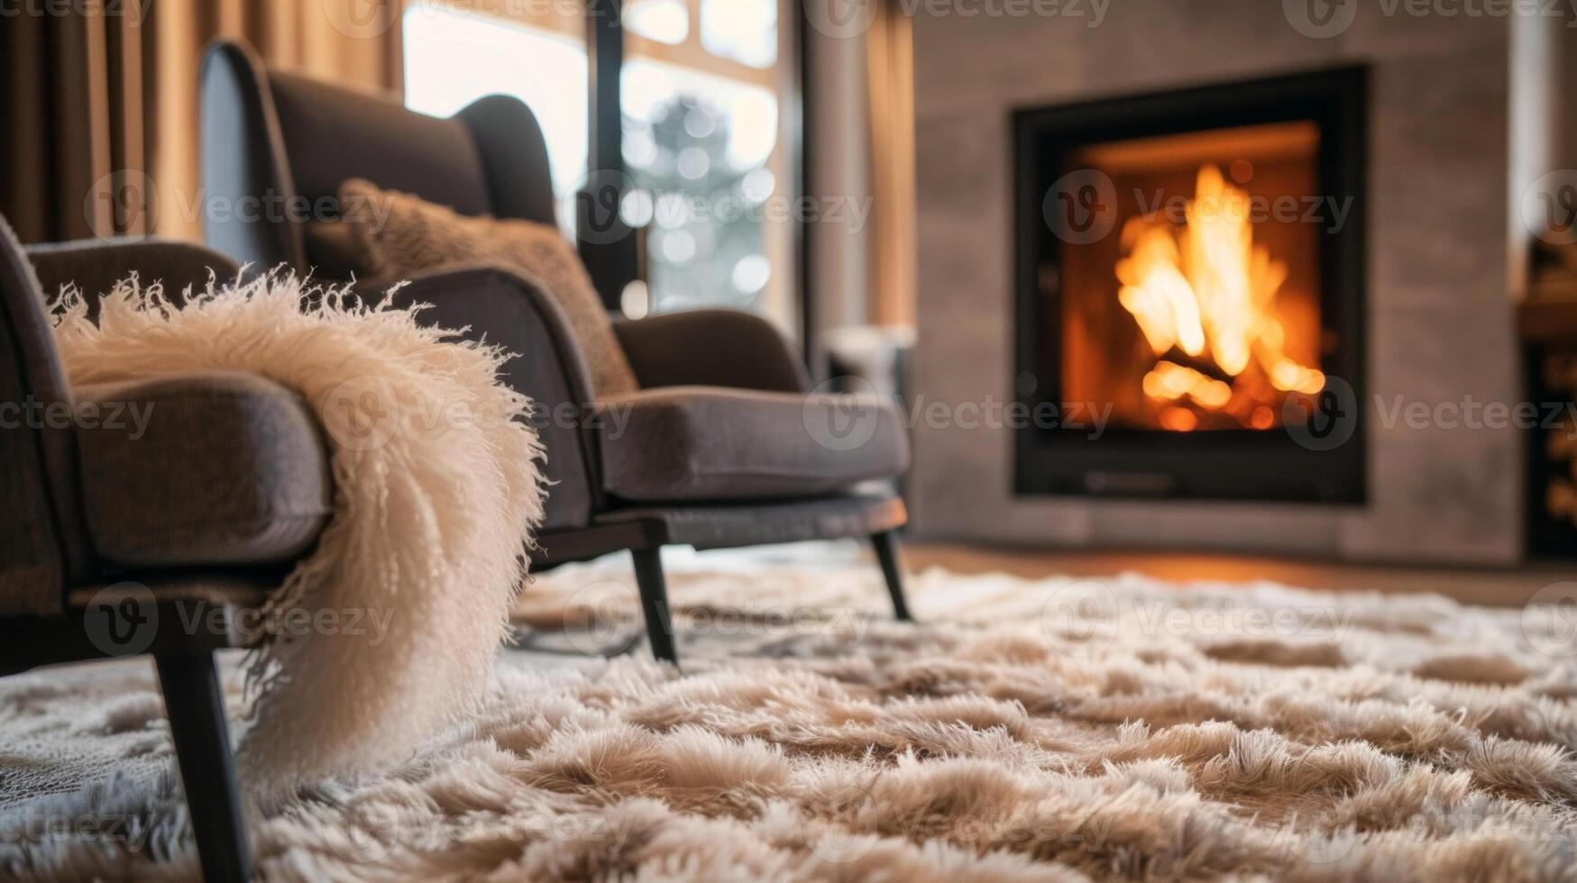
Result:
<svg viewBox="0 0 1577 883"><path fill-rule="evenodd" d="M558 221L574 235L587 175L587 22L565 5L509 19L467 5L405 11L405 104L448 117L492 93L542 125ZM645 279L631 315L727 306L798 325L793 194L782 118L795 73L779 63L787 0L626 0L620 76L624 221L640 232ZM618 282L615 282L617 289ZM615 292L609 293L617 295Z"/></svg>

